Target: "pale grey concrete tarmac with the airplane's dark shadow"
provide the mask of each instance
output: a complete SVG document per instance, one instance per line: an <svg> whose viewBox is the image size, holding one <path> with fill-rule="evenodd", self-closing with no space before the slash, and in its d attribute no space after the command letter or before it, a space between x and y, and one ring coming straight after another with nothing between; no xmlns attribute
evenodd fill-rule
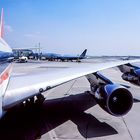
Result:
<svg viewBox="0 0 140 140"><path fill-rule="evenodd" d="M12 76L57 72L103 61L14 63ZM123 81L117 68L102 73L114 82L131 86L135 103L127 115L114 117L103 111L87 92L88 81L81 77L44 93L42 106L21 105L9 111L0 121L0 140L139 140L140 87Z"/></svg>

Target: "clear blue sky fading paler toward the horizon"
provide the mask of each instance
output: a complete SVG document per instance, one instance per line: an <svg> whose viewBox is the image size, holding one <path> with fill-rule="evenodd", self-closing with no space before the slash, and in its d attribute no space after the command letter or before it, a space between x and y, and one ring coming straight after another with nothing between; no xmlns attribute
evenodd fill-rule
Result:
<svg viewBox="0 0 140 140"><path fill-rule="evenodd" d="M140 55L139 0L0 0L12 48L62 54Z"/></svg>

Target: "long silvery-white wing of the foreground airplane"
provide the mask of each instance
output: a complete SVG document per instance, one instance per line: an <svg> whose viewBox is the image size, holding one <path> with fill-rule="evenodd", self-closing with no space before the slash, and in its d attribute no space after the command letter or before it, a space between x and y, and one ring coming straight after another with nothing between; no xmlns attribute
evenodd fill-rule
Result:
<svg viewBox="0 0 140 140"><path fill-rule="evenodd" d="M43 93L48 89L54 88L73 79L104 69L135 62L140 62L140 60L96 63L91 64L89 67L67 68L59 72L11 76L4 96L3 106L5 108L10 108L14 104L20 103L29 97L33 97L40 92Z"/></svg>

